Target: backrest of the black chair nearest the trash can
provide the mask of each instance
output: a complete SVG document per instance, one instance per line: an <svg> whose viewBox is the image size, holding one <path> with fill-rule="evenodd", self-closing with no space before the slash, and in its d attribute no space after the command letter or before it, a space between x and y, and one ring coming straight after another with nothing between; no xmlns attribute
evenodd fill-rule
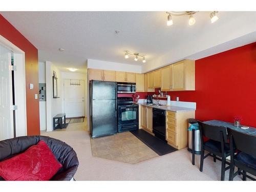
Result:
<svg viewBox="0 0 256 192"><path fill-rule="evenodd" d="M201 138L203 136L221 142L222 139L227 143L227 129L225 126L215 126L198 121ZM221 138L222 137L222 138Z"/></svg>

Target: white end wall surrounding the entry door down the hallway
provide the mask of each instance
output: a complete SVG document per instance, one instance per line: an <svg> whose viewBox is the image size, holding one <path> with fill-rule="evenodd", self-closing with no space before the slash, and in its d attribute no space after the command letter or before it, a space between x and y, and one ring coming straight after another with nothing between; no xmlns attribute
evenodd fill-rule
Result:
<svg viewBox="0 0 256 192"><path fill-rule="evenodd" d="M86 70L87 71L87 70ZM84 116L87 116L87 72L84 73L75 73L75 72L61 72L62 82L64 82L64 79L77 79L77 80L83 80L84 81ZM65 112L64 108L64 84L62 83L62 109L63 112Z"/></svg>

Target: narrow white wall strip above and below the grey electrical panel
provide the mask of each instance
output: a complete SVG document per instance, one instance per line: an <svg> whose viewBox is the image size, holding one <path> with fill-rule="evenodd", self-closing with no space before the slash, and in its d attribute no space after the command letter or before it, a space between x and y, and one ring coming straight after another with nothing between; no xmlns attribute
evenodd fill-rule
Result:
<svg viewBox="0 0 256 192"><path fill-rule="evenodd" d="M46 63L38 63L38 83L46 83ZM47 90L46 90L47 91ZM39 100L40 130L46 130L46 101Z"/></svg>

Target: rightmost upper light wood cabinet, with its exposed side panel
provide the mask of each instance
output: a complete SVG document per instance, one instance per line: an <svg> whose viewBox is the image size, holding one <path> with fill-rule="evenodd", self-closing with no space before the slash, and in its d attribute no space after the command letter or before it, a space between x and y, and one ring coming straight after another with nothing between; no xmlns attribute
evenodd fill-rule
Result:
<svg viewBox="0 0 256 192"><path fill-rule="evenodd" d="M185 59L171 66L171 91L195 90L195 61Z"/></svg>

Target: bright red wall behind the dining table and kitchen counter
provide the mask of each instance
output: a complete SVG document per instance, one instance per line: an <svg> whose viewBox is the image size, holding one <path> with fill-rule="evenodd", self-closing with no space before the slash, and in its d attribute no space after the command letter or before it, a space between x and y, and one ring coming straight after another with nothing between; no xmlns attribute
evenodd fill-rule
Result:
<svg viewBox="0 0 256 192"><path fill-rule="evenodd" d="M196 91L168 92L172 100L197 102L196 118L256 127L256 42L196 60Z"/></svg>

